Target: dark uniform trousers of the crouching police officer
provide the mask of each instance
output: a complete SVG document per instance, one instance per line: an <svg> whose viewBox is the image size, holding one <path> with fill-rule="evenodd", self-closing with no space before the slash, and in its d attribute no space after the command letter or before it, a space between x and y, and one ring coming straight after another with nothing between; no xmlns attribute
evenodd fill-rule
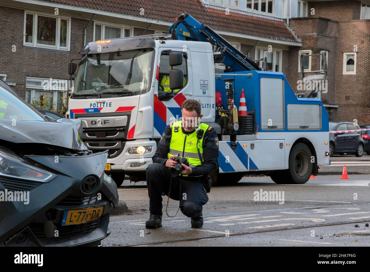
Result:
<svg viewBox="0 0 370 272"><path fill-rule="evenodd" d="M168 196L171 171L163 164L153 163L146 170L149 195L149 211L162 214L162 192ZM201 177L172 177L169 198L180 201L181 212L196 218L202 214L203 205L208 202L205 184Z"/></svg>

